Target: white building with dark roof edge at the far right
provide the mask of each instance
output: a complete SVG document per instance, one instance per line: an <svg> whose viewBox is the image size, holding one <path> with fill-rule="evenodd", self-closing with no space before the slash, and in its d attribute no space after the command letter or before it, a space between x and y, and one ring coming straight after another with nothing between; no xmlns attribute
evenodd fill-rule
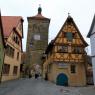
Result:
<svg viewBox="0 0 95 95"><path fill-rule="evenodd" d="M89 30L89 33L87 35L88 38L90 38L91 43L91 56L92 56L92 66L93 66L93 81L95 85L95 15L92 20L92 24Z"/></svg>

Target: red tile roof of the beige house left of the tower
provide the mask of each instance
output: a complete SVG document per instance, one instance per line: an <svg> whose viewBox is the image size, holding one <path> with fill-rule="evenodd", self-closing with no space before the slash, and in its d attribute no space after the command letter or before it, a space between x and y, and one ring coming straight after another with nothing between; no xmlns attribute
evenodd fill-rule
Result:
<svg viewBox="0 0 95 95"><path fill-rule="evenodd" d="M4 37L8 37L13 28L17 27L19 21L21 20L21 16L2 16Z"/></svg>

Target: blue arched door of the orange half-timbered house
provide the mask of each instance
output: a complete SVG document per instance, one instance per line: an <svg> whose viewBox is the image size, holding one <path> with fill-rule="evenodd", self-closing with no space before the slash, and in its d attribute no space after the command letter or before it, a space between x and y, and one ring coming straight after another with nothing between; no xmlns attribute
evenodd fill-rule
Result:
<svg viewBox="0 0 95 95"><path fill-rule="evenodd" d="M64 74L64 73L60 73L57 76L56 84L61 85L61 86L68 86L68 77L67 77L67 75Z"/></svg>

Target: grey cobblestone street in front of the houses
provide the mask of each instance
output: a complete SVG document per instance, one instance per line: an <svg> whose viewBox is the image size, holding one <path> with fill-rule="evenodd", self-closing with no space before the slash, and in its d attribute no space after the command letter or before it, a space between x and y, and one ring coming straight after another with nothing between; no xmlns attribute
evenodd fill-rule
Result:
<svg viewBox="0 0 95 95"><path fill-rule="evenodd" d="M63 87L42 79L23 78L1 83L0 95L95 95L95 88Z"/></svg>

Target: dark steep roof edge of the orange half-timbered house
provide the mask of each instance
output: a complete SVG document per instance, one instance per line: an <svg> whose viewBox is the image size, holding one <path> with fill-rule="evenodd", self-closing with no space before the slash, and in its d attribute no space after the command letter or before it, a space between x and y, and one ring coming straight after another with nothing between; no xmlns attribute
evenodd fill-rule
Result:
<svg viewBox="0 0 95 95"><path fill-rule="evenodd" d="M60 29L60 31L59 31L58 35L56 36L55 40L57 39L57 37L59 36L59 34L60 34L60 32L62 31L63 27L66 25L66 23L67 23L68 21L71 21L71 22L74 24L74 27L76 28L76 30L77 30L79 36L81 37L81 39L82 39L84 45L85 45L85 46L88 46L87 42L86 42L86 41L84 40L84 38L82 37L82 35L81 35L81 33L80 33L80 31L79 31L77 25L75 24L75 22L74 22L74 20L73 20L73 18L72 18L71 16L68 16L68 17L67 17L65 23L63 24L62 28Z"/></svg>

